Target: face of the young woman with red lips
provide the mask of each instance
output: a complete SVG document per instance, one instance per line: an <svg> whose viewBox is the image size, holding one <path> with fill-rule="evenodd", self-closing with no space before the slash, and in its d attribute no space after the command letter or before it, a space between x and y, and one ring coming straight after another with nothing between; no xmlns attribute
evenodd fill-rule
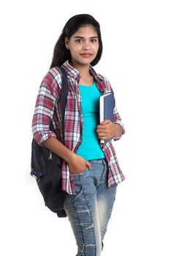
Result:
<svg viewBox="0 0 171 256"><path fill-rule="evenodd" d="M70 39L65 38L65 46L70 50L73 66L91 64L99 50L99 39L94 26L80 27Z"/></svg>

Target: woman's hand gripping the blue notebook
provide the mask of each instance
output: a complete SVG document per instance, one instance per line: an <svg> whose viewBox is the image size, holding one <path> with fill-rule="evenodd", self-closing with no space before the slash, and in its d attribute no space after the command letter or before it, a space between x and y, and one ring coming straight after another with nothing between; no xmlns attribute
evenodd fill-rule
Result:
<svg viewBox="0 0 171 256"><path fill-rule="evenodd" d="M110 140L111 138L119 138L122 135L123 129L120 124L104 120L97 126L96 132L100 140Z"/></svg>

